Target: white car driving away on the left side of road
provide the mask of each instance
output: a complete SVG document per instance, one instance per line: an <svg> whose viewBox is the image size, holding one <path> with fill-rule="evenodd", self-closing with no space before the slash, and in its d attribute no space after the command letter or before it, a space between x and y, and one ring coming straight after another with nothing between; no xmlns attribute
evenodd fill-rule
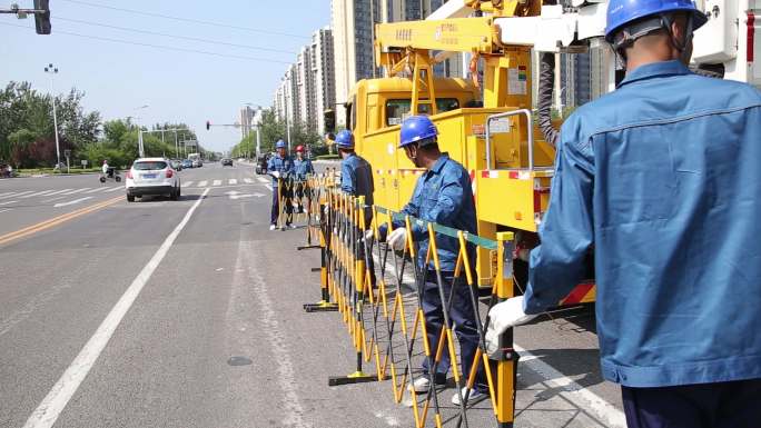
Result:
<svg viewBox="0 0 761 428"><path fill-rule="evenodd" d="M164 158L136 160L127 172L125 188L129 202L146 195L166 195L171 200L180 197L179 175L171 168L169 160Z"/></svg>

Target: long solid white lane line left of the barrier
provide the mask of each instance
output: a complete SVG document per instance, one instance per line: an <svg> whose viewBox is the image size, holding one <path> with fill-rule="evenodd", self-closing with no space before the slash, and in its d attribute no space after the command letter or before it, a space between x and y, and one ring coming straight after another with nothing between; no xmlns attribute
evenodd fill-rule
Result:
<svg viewBox="0 0 761 428"><path fill-rule="evenodd" d="M148 265L146 265L135 280L132 280L132 283L127 288L127 291L121 295L119 301L117 301L106 319L100 324L90 340L88 340L82 350L79 351L77 358L75 358L71 365L63 371L61 378L58 379L50 392L48 392L42 402L40 402L37 409L31 414L27 424L23 425L23 428L50 428L56 424L61 411L63 411L71 397L77 392L79 386L82 385L82 381L90 372L90 369L92 369L92 366L95 366L98 357L100 357L100 354L106 348L106 345L108 345L111 336L113 336L113 331L119 327L125 315L127 315L127 311L132 307L138 295L140 295L140 291L154 275L154 271L156 271L156 268L158 268L161 260L164 260L169 248L175 243L175 240L208 192L209 189L206 189L204 193L201 193L201 197L198 198L185 215L182 221L180 221L175 230L169 233L164 243L161 243L161 247L159 247L154 257L150 258ZM288 358L289 356L286 354L285 357ZM297 385L295 379L291 379L290 382Z"/></svg>

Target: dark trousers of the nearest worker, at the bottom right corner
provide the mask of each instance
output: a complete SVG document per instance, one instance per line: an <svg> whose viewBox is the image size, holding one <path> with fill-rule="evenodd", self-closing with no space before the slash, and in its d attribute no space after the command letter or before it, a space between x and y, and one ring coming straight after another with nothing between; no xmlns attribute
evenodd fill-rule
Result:
<svg viewBox="0 0 761 428"><path fill-rule="evenodd" d="M621 392L629 428L761 427L761 379Z"/></svg>

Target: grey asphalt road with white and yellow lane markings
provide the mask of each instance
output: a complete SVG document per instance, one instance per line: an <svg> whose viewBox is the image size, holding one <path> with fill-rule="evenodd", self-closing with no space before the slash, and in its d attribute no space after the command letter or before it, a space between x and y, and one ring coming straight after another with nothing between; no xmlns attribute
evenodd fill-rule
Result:
<svg viewBox="0 0 761 428"><path fill-rule="evenodd" d="M180 201L135 203L97 176L0 180L0 427L414 426L388 381L327 386L352 342L337 313L302 310L319 253L296 250L304 228L268 230L267 179L180 177ZM516 342L517 427L621 426L589 308Z"/></svg>

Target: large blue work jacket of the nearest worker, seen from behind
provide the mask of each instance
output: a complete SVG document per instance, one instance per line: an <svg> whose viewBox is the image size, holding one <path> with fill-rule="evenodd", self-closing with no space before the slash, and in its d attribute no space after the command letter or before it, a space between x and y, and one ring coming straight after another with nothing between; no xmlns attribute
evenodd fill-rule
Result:
<svg viewBox="0 0 761 428"><path fill-rule="evenodd" d="M526 312L579 283L594 247L606 379L761 378L761 93L645 64L560 136Z"/></svg>

